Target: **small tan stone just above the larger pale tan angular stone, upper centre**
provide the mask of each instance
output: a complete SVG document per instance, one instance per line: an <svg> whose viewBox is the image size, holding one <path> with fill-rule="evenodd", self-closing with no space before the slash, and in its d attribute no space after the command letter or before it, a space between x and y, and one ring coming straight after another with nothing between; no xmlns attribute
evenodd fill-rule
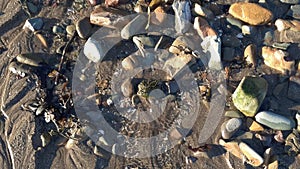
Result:
<svg viewBox="0 0 300 169"><path fill-rule="evenodd" d="M194 50L194 43L185 36L178 36L169 48L169 52L180 54L185 48Z"/></svg>

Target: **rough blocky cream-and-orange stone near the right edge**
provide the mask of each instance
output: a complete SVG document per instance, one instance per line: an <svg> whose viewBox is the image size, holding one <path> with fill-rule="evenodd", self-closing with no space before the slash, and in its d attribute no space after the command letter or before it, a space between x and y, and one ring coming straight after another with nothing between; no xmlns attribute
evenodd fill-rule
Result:
<svg viewBox="0 0 300 169"><path fill-rule="evenodd" d="M285 57L288 56L287 52L279 49L264 46L262 48L262 57L264 63L282 73L293 72L295 69L295 61L286 61Z"/></svg>

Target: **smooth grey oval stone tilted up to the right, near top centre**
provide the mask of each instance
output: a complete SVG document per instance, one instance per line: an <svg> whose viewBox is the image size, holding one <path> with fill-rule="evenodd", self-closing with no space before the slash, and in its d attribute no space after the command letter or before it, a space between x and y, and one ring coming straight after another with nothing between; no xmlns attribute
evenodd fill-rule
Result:
<svg viewBox="0 0 300 169"><path fill-rule="evenodd" d="M143 33L145 31L146 24L147 18L144 15L136 16L121 30L121 37L123 39L129 39L136 34Z"/></svg>

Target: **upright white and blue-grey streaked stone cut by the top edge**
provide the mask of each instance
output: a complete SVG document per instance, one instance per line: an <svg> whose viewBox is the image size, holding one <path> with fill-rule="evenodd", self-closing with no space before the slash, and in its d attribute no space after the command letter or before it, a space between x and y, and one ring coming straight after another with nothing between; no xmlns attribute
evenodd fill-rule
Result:
<svg viewBox="0 0 300 169"><path fill-rule="evenodd" d="M175 30L178 34L183 34L190 28L192 19L191 3L189 1L173 1L172 8L175 13Z"/></svg>

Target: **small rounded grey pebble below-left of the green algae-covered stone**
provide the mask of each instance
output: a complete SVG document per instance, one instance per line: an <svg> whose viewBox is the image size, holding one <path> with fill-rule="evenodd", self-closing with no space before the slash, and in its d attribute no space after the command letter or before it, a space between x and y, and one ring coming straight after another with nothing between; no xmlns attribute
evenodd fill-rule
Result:
<svg viewBox="0 0 300 169"><path fill-rule="evenodd" d="M224 139L230 139L241 127L242 119L232 118L221 126L221 134Z"/></svg>

